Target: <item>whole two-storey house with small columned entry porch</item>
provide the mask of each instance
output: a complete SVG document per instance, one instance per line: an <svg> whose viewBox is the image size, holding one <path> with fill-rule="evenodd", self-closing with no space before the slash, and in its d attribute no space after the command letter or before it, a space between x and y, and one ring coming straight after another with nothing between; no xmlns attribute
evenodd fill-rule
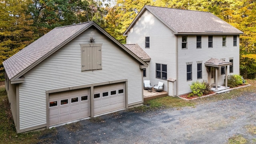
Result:
<svg viewBox="0 0 256 144"><path fill-rule="evenodd" d="M240 34L210 12L144 6L123 35L151 58L144 80L164 82L169 96L180 96L192 82L218 90L228 74L239 74Z"/></svg>

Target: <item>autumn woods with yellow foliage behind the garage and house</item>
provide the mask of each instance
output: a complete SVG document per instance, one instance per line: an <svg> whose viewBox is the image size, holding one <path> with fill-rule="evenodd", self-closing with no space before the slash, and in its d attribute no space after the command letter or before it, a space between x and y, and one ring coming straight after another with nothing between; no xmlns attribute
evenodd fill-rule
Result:
<svg viewBox="0 0 256 144"><path fill-rule="evenodd" d="M56 26L94 20L124 44L123 32L145 4L211 12L243 31L240 74L256 78L255 0L0 0L0 81L4 60Z"/></svg>

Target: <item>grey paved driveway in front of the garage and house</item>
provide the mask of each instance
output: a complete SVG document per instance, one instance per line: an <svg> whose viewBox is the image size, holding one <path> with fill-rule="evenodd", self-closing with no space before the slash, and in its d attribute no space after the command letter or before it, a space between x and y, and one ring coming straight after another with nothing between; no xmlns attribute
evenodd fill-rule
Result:
<svg viewBox="0 0 256 144"><path fill-rule="evenodd" d="M246 93L182 109L107 114L91 120L57 127L49 143L57 144L224 144L241 135L255 143L256 94ZM49 136L46 136L49 137Z"/></svg>

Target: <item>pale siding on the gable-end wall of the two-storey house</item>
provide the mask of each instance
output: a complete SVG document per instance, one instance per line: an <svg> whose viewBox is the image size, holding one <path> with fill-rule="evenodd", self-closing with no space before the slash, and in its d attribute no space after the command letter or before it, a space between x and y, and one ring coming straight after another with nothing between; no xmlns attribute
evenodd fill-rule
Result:
<svg viewBox="0 0 256 144"><path fill-rule="evenodd" d="M150 37L150 48L145 48L146 36ZM128 32L126 43L138 44L150 56L147 77L152 86L164 82L167 91L167 80L156 78L156 63L167 64L167 78L176 79L176 37L172 30L146 10Z"/></svg>

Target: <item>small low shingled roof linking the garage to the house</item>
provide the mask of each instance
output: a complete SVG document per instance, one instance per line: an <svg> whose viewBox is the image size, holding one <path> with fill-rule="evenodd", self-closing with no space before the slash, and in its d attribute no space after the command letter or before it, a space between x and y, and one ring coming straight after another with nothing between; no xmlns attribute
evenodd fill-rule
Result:
<svg viewBox="0 0 256 144"><path fill-rule="evenodd" d="M144 50L142 50L142 48L138 44L124 44L124 46L128 48L130 51L132 51L134 54L136 54L142 60L150 61L151 58Z"/></svg>

